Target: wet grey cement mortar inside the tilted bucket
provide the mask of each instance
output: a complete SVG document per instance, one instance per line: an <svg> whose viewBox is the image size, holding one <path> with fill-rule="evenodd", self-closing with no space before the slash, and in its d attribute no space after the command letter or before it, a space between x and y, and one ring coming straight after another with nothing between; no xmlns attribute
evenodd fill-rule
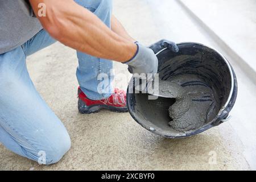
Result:
<svg viewBox="0 0 256 182"><path fill-rule="evenodd" d="M159 81L159 94L175 98L169 107L173 129L181 132L196 130L216 116L214 92L201 78L178 75L171 81Z"/></svg>

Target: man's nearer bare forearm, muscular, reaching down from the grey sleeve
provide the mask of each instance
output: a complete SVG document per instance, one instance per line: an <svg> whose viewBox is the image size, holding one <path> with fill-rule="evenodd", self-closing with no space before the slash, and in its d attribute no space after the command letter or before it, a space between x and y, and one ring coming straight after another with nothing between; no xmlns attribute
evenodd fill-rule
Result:
<svg viewBox="0 0 256 182"><path fill-rule="evenodd" d="M39 17L49 34L68 47L104 59L125 62L135 55L133 42L111 31L101 20L73 0L30 0L37 15L39 3L46 16Z"/></svg>

